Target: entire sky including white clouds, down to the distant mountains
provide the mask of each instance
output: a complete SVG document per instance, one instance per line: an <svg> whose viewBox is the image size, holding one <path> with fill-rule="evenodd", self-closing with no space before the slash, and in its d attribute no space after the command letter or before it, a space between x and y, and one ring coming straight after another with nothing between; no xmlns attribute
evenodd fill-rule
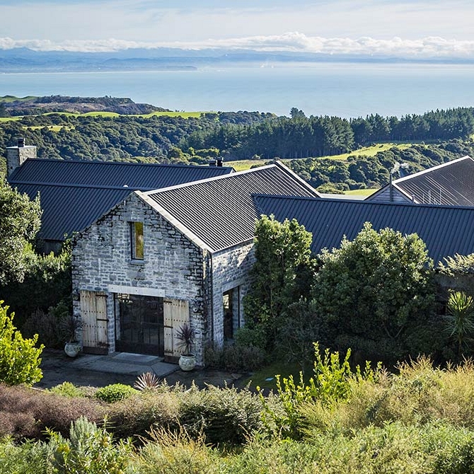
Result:
<svg viewBox="0 0 474 474"><path fill-rule="evenodd" d="M0 0L0 49L134 47L474 59L472 0Z"/></svg>

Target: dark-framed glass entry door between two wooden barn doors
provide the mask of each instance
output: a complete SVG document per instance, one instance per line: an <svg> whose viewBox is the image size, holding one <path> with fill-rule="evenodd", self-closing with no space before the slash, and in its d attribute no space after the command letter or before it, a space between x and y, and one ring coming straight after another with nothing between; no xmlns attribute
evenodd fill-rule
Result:
<svg viewBox="0 0 474 474"><path fill-rule="evenodd" d="M163 356L163 298L119 294L115 308L116 350Z"/></svg>

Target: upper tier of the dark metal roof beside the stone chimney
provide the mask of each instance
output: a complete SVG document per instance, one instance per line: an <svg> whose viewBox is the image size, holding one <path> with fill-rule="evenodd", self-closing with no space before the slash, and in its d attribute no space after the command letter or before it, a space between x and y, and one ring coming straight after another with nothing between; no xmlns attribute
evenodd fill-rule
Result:
<svg viewBox="0 0 474 474"><path fill-rule="evenodd" d="M30 158L16 168L9 183L47 183L123 187L156 190L190 181L231 173L226 166L163 165L158 163L117 163L112 161L71 161Z"/></svg>

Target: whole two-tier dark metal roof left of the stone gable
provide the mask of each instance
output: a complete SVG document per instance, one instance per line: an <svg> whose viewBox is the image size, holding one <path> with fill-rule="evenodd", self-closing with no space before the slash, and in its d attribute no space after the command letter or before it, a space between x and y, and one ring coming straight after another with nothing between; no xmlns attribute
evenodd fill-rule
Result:
<svg viewBox="0 0 474 474"><path fill-rule="evenodd" d="M218 166L31 158L8 182L32 199L40 193L43 214L38 236L64 241L64 235L85 229L133 190L155 190L232 171Z"/></svg>

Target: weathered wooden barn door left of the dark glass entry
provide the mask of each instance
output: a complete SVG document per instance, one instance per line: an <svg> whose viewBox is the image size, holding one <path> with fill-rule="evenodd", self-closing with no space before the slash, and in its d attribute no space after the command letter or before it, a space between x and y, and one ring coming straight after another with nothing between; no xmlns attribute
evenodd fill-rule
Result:
<svg viewBox="0 0 474 474"><path fill-rule="evenodd" d="M81 291L83 351L108 353L107 295L98 291Z"/></svg>

